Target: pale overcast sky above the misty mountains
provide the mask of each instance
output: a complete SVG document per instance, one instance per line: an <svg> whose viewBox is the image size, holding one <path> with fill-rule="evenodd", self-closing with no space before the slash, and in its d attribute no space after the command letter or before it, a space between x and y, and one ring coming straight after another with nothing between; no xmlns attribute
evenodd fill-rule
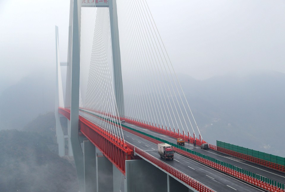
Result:
<svg viewBox="0 0 285 192"><path fill-rule="evenodd" d="M251 70L285 73L284 0L147 2L176 72L199 80ZM1 0L0 23L2 87L55 69L55 25L66 61L69 0Z"/></svg>

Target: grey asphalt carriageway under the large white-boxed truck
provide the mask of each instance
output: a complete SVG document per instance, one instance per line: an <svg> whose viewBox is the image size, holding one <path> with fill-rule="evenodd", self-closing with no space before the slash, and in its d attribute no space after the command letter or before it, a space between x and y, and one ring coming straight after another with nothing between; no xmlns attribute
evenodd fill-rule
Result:
<svg viewBox="0 0 285 192"><path fill-rule="evenodd" d="M254 186L243 183L238 179L232 178L177 153L175 153L173 161L161 159L158 155L156 149L157 145L155 143L151 143L150 141L133 135L132 133L126 131L123 132L127 142L132 143L134 146L144 150L152 156L157 157L184 174L189 175L191 178L194 178L199 183L211 188L214 191L262 191Z"/></svg>

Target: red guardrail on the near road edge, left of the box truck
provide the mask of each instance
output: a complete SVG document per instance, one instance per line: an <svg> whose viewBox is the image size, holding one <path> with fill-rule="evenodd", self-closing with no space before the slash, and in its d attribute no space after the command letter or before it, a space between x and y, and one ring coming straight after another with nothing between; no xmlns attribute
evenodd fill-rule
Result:
<svg viewBox="0 0 285 192"><path fill-rule="evenodd" d="M194 179L190 178L188 175L183 174L182 172L174 169L173 167L170 167L169 165L167 165L166 163L160 161L159 159L155 158L154 156L146 153L145 151L138 149L138 148L134 148L134 151L143 156L145 159L148 159L150 162L152 162L153 164L156 164L158 167L162 168L163 170L165 170L166 172L170 173L171 175L175 176L176 178L178 178L179 180L183 181L184 183L186 183L187 185L191 186L192 188L196 189L197 191L200 192L214 192L213 190L209 189L208 187L205 187L204 185L202 185L201 183L199 183L198 181L195 181Z"/></svg>

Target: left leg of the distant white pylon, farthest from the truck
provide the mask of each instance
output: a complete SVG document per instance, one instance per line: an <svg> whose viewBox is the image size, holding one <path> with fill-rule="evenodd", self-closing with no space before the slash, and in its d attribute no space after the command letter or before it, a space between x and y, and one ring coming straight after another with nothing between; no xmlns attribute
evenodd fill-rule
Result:
<svg viewBox="0 0 285 192"><path fill-rule="evenodd" d="M61 71L59 61L59 43L58 43L58 26L56 26L56 102L55 102L55 117L56 117L56 138L58 143L58 155L64 156L64 134L60 124L60 118L58 114L58 107L64 107L63 91L61 82Z"/></svg>

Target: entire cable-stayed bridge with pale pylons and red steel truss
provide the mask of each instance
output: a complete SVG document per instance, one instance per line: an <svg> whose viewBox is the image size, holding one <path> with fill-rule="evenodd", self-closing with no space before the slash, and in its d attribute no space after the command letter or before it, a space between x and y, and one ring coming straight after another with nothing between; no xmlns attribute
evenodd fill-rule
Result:
<svg viewBox="0 0 285 192"><path fill-rule="evenodd" d="M71 0L67 63L58 58L56 27L59 155L68 140L81 192L284 192L284 165L200 149L206 141L145 0ZM160 159L158 143L172 145L174 159Z"/></svg>

